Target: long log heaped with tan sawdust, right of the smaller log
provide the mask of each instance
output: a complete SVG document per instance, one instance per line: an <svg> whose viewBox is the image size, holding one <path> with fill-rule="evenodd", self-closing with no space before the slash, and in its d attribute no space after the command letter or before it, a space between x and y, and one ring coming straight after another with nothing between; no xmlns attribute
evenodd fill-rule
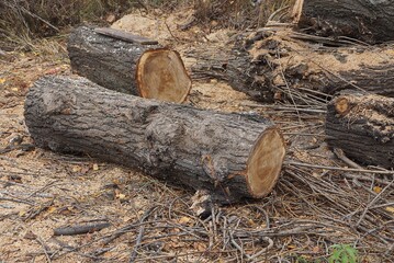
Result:
<svg viewBox="0 0 394 263"><path fill-rule="evenodd" d="M232 50L190 54L194 78L217 78L262 102L324 104L346 89L394 96L393 45L330 47L295 39L292 31L257 32ZM217 55L218 54L218 55Z"/></svg>

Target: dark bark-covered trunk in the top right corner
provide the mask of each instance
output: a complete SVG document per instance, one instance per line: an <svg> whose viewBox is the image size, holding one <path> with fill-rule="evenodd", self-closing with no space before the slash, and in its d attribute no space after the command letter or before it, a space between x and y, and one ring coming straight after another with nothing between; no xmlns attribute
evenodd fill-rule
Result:
<svg viewBox="0 0 394 263"><path fill-rule="evenodd" d="M299 26L320 36L348 36L370 44L394 41L392 0L304 0Z"/></svg>

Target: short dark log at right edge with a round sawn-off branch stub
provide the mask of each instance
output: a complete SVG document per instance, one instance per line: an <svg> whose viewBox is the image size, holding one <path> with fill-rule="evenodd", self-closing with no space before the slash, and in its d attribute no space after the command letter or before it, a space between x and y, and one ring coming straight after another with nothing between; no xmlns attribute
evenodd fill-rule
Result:
<svg viewBox="0 0 394 263"><path fill-rule="evenodd" d="M363 164L394 168L394 99L347 92L327 106L327 142Z"/></svg>

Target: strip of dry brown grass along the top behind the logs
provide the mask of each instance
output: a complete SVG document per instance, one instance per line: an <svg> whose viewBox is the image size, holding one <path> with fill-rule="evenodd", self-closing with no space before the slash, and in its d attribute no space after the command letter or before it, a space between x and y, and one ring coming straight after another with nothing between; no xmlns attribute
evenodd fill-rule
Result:
<svg viewBox="0 0 394 263"><path fill-rule="evenodd" d="M171 12L180 5L194 5L202 26L245 30L262 26L269 15L292 0L4 0L0 2L0 49L37 49L32 39L58 35L65 27L82 22L109 24L125 12Z"/></svg>

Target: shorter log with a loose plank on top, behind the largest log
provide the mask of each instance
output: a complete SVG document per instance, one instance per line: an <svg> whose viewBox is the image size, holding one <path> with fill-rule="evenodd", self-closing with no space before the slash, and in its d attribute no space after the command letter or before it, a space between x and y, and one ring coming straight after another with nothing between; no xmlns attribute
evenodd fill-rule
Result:
<svg viewBox="0 0 394 263"><path fill-rule="evenodd" d="M72 71L104 88L183 102L191 80L182 59L154 43L115 30L81 26L71 33L67 49Z"/></svg>

